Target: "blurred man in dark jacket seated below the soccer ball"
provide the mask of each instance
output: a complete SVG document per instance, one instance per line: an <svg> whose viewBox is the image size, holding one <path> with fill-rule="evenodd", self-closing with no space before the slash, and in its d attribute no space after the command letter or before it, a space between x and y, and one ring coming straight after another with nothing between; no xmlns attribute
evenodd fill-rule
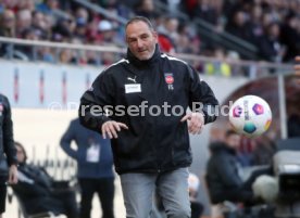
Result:
<svg viewBox="0 0 300 218"><path fill-rule="evenodd" d="M207 182L213 204L224 201L253 205L260 200L254 196L252 183L265 174L272 175L271 168L257 169L243 181L242 169L238 164L236 151L241 137L234 130L227 130L224 142L210 145L211 157L207 166Z"/></svg>

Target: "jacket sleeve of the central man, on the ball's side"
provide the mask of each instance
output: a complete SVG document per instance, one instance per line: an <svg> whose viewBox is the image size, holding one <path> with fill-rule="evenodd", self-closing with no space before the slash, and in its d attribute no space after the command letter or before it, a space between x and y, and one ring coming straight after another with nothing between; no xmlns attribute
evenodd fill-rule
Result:
<svg viewBox="0 0 300 218"><path fill-rule="evenodd" d="M204 124L212 123L216 119L216 110L218 101L216 100L210 86L200 80L199 74L188 66L189 70L189 107L192 112L202 112L204 114Z"/></svg>

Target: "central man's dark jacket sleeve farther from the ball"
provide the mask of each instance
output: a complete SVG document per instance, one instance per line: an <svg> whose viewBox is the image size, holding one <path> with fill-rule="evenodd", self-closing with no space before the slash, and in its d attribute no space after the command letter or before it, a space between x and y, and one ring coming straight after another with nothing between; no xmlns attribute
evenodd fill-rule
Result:
<svg viewBox="0 0 300 218"><path fill-rule="evenodd" d="M105 115L105 108L113 103L113 86L108 72L100 74L80 99L80 124L91 130L100 132L102 125L110 120Z"/></svg>

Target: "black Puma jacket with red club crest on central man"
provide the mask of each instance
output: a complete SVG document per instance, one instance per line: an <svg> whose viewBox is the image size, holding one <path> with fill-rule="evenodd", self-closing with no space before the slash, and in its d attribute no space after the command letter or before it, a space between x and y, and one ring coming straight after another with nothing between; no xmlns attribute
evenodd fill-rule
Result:
<svg viewBox="0 0 300 218"><path fill-rule="evenodd" d="M135 87L134 90L130 86ZM145 101L148 107L140 110L138 116L118 113L120 107L141 108ZM216 117L209 113L209 105L218 103L208 84L200 81L197 72L187 63L161 54L157 47L148 61L139 61L128 51L127 59L104 69L92 88L84 93L79 117L84 126L98 132L109 119L128 126L128 130L120 131L118 138L112 140L118 174L166 171L191 164L187 123L180 123L184 115L171 115L171 108L179 113L178 107L174 107L179 105L185 113L192 102L203 104L205 124L215 120ZM164 103L170 107L163 108ZM113 113L109 117L92 115L92 105L100 105L102 111L109 105ZM158 110L152 105L161 106L162 113L151 116L150 113L153 115Z"/></svg>

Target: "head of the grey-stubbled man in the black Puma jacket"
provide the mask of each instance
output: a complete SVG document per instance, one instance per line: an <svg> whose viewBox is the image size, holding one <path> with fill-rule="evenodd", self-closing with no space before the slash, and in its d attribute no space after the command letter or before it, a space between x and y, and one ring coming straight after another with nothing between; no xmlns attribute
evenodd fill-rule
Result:
<svg viewBox="0 0 300 218"><path fill-rule="evenodd" d="M152 57L158 34L143 22L134 22L126 28L126 42L130 52L140 61Z"/></svg>

